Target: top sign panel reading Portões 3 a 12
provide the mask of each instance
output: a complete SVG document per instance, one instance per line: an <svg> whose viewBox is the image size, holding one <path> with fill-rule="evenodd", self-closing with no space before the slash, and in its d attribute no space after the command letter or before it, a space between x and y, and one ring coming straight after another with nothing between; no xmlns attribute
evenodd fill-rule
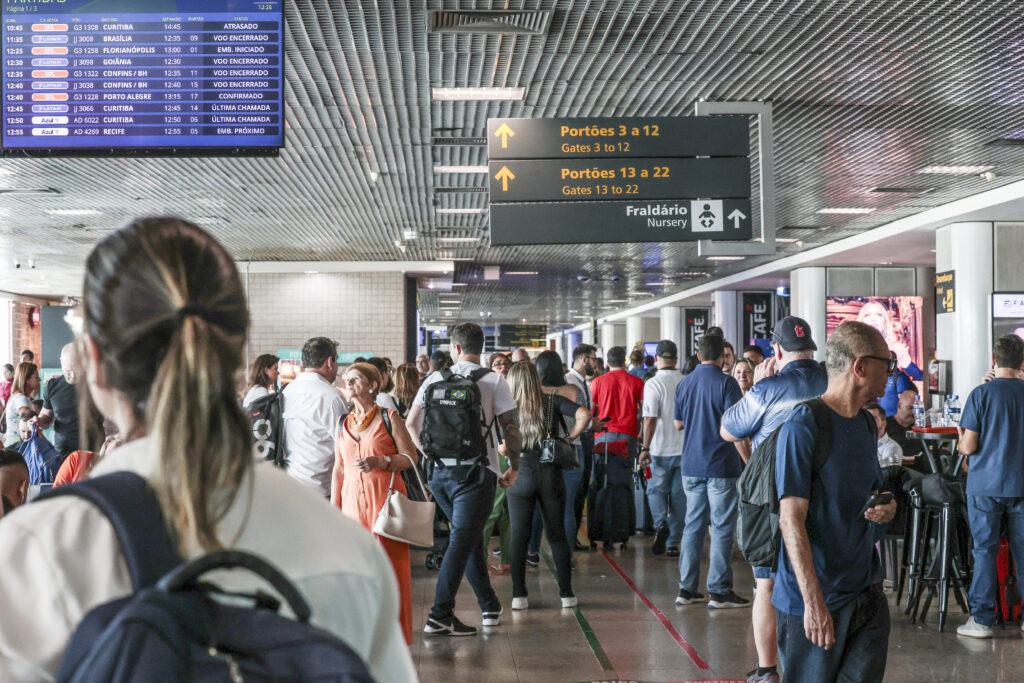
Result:
<svg viewBox="0 0 1024 683"><path fill-rule="evenodd" d="M746 157L742 116L611 119L489 119L489 159Z"/></svg>

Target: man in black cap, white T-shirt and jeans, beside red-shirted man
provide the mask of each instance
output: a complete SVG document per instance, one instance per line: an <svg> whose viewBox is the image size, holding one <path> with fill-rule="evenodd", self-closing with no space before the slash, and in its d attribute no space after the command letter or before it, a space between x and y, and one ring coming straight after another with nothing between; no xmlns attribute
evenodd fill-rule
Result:
<svg viewBox="0 0 1024 683"><path fill-rule="evenodd" d="M679 351L675 342L657 343L654 367L657 372L643 387L643 447L640 465L650 464L647 500L654 517L654 545L650 551L679 556L679 544L686 521L686 494L680 463L683 432L672 421L676 411L676 386L683 374L676 370Z"/></svg>

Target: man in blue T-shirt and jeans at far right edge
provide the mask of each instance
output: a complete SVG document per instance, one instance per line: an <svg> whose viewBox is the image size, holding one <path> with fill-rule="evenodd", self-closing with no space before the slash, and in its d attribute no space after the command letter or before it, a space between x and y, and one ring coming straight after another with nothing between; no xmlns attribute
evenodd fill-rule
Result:
<svg viewBox="0 0 1024 683"><path fill-rule="evenodd" d="M974 537L971 618L961 636L991 638L998 590L995 558L999 525L1006 518L1017 581L1024 586L1024 341L1017 335L995 340L995 379L971 392L959 424L959 452L971 456L967 476L967 515Z"/></svg>

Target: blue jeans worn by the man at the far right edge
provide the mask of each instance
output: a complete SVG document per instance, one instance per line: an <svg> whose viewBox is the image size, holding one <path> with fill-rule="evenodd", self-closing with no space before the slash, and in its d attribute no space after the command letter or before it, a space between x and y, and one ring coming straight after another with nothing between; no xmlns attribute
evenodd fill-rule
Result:
<svg viewBox="0 0 1024 683"><path fill-rule="evenodd" d="M1024 586L1024 498L967 497L967 517L974 537L974 579L968 602L974 621L985 626L995 623L995 595L999 589L995 560L1004 516L1010 527L1010 552L1017 562L1017 585Z"/></svg>

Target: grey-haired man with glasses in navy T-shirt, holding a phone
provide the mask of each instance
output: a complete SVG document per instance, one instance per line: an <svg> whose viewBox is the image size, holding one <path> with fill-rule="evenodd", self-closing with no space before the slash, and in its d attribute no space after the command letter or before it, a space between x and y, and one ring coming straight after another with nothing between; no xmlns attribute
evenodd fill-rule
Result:
<svg viewBox="0 0 1024 683"><path fill-rule="evenodd" d="M797 407L779 431L776 484L783 547L772 604L787 683L882 681L889 648L889 605L874 543L896 503L860 514L882 484L873 421L861 407L895 370L874 328L848 322L825 346L831 447L812 472L817 426Z"/></svg>

